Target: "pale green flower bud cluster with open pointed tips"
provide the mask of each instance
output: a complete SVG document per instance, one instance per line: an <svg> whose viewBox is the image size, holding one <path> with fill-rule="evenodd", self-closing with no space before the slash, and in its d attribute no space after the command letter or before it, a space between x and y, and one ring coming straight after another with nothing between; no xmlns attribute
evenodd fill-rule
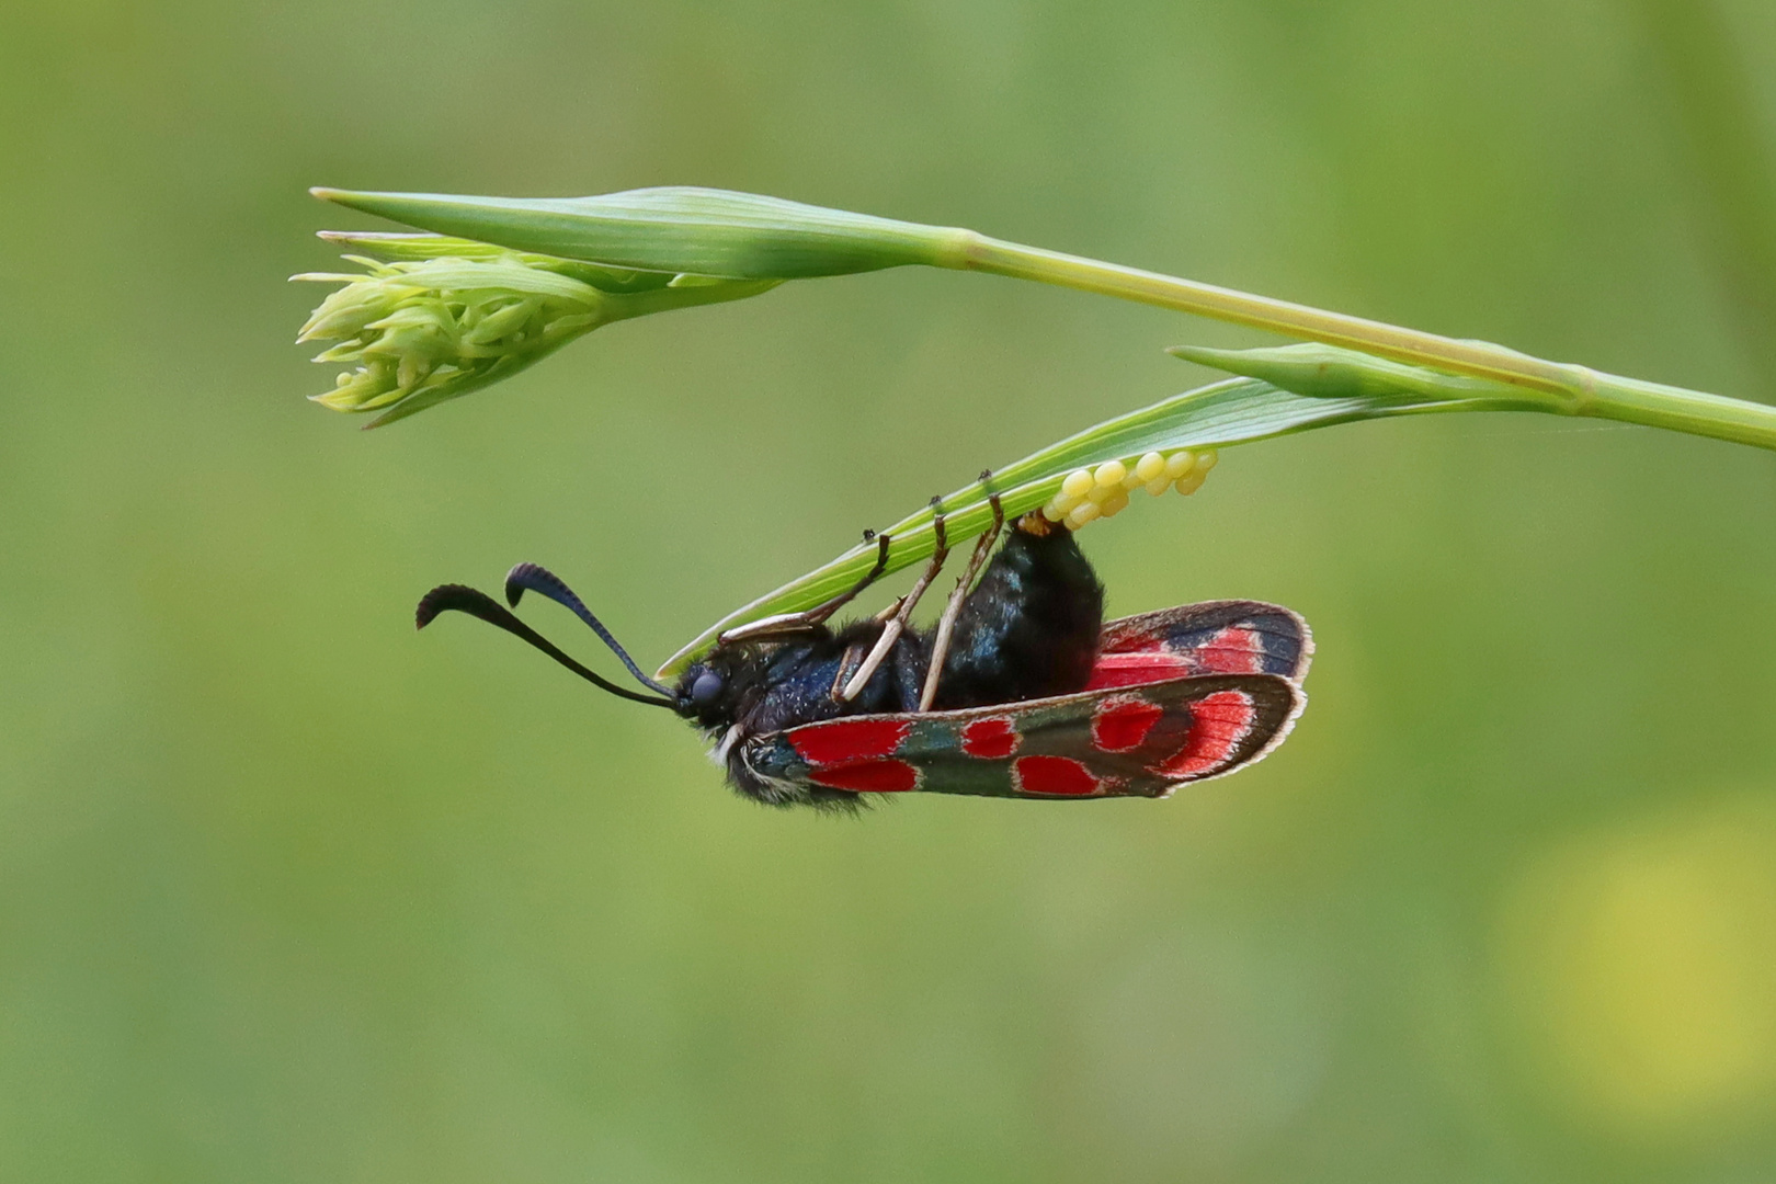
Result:
<svg viewBox="0 0 1776 1184"><path fill-rule="evenodd" d="M298 341L336 341L316 362L357 362L311 396L380 426L506 378L574 337L629 316L751 296L773 282L634 272L439 234L329 234L398 256L298 280L345 284ZM687 280L687 282L684 282Z"/></svg>

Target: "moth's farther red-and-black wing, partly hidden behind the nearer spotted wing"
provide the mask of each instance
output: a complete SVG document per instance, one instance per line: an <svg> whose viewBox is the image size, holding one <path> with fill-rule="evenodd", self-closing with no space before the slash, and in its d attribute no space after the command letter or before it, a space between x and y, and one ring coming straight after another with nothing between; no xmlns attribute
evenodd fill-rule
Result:
<svg viewBox="0 0 1776 1184"><path fill-rule="evenodd" d="M1312 653L1314 635L1298 612L1263 600L1206 600L1106 623L1087 689L1193 675L1277 675L1300 683Z"/></svg>

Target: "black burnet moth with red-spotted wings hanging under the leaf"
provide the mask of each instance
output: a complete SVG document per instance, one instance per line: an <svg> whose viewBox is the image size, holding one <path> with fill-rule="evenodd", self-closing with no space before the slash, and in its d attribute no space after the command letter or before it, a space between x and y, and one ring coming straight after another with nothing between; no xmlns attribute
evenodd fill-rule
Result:
<svg viewBox="0 0 1776 1184"><path fill-rule="evenodd" d="M467 612L613 694L677 712L710 740L728 783L767 806L847 809L908 790L1169 797L1282 744L1305 705L1312 655L1300 616L1211 600L1105 623L1103 586L1073 531L1041 511L1005 529L991 501L993 529L934 628L908 621L948 556L941 511L936 554L879 616L828 625L888 563L893 540L867 534L876 566L854 588L721 634L671 687L648 678L556 575L529 563L506 575L513 607L527 591L565 605L646 694L607 682L462 584L426 593L416 620L424 628L439 612Z"/></svg>

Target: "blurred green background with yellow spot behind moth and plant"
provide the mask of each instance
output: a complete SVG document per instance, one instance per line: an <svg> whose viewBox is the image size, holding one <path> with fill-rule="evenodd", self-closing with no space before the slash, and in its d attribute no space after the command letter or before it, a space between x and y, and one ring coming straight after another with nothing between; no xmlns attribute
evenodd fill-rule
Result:
<svg viewBox="0 0 1776 1184"><path fill-rule="evenodd" d="M767 813L645 660L1263 339L890 272L359 433L307 185L758 190L1776 398L1764 0L0 11L0 1177L1776 1179L1776 458L1234 449L1085 545L1302 611L1163 804ZM531 614L593 653L565 614Z"/></svg>

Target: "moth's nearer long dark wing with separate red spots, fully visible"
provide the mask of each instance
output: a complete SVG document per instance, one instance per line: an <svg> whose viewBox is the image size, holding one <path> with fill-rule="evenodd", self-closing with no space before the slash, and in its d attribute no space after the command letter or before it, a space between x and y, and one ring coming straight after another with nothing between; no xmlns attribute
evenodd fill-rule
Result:
<svg viewBox="0 0 1776 1184"><path fill-rule="evenodd" d="M753 737L773 781L852 793L1167 797L1263 760L1305 696L1279 675L1211 675L959 712L851 715Z"/></svg>

